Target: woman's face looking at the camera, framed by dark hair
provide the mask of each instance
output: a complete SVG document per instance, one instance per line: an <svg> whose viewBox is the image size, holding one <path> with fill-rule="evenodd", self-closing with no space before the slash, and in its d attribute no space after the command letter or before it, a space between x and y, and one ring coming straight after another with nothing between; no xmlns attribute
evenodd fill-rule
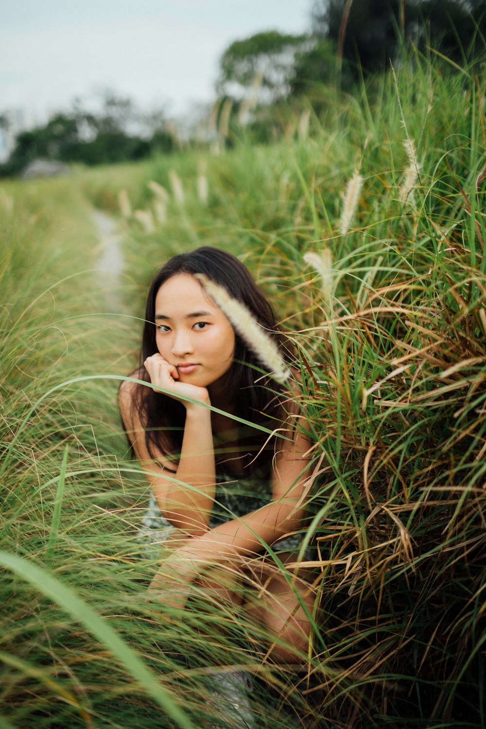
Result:
<svg viewBox="0 0 486 729"><path fill-rule="evenodd" d="M197 278L172 276L155 297L157 349L175 364L181 382L207 387L227 373L235 353L235 332Z"/></svg>

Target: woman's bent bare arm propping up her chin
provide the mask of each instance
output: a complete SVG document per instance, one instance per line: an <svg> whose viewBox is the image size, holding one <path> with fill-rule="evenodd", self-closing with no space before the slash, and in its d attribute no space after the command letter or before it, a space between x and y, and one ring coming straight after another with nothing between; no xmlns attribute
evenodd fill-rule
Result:
<svg viewBox="0 0 486 729"><path fill-rule="evenodd" d="M153 369L151 379L155 381L154 384L167 387L168 383L164 381L162 384ZM172 382L174 383L173 379ZM186 392L182 391L183 383L176 384L181 386L178 390L179 396L187 394L193 399L209 404L207 391ZM191 387L193 386L188 385L185 389ZM204 534L208 529L216 488L211 410L194 403L184 403L187 405L186 424L179 465L174 470L173 461L161 451L154 448L155 459L153 459L146 448L144 426L133 406L135 388L136 384L130 381L122 383L119 390L119 410L130 443L138 461L144 467L160 511L186 536ZM194 388L196 389L203 390Z"/></svg>

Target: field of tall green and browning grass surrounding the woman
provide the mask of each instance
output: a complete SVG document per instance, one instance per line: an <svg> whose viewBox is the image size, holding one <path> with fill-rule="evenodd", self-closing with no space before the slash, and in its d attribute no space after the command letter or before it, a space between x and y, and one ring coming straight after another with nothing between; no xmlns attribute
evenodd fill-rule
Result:
<svg viewBox="0 0 486 729"><path fill-rule="evenodd" d="M233 663L262 729L486 724L485 105L473 69L413 57L328 90L300 139L0 182L1 728L224 727L208 677ZM123 269L100 273L110 221ZM230 615L144 601L117 387L152 273L203 244L298 353L320 596L299 670Z"/></svg>

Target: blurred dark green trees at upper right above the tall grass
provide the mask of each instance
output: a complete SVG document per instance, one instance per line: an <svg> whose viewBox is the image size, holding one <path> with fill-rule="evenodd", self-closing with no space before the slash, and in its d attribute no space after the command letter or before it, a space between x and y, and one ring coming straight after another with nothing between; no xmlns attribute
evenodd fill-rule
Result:
<svg viewBox="0 0 486 729"><path fill-rule="evenodd" d="M337 70L352 85L389 69L409 44L459 63L484 58L485 38L486 0L316 0L310 34L259 33L232 43L218 88L231 95L259 75L275 101L307 93Z"/></svg>

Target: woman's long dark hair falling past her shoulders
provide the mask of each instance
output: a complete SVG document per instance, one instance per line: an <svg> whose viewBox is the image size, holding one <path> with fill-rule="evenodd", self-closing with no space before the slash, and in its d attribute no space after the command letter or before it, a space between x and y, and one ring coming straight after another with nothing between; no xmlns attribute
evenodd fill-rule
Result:
<svg viewBox="0 0 486 729"><path fill-rule="evenodd" d="M221 249L201 246L195 251L174 256L154 276L147 296L138 379L150 381L143 363L148 356L158 351L154 323L157 292L165 281L181 273L192 275L203 273L216 284L224 286L234 299L246 305L254 319L278 344L283 359L289 362L291 348L288 341L277 327L270 303L256 286L246 266L238 258ZM270 378L262 378L261 370L262 365L256 355L235 332L235 354L229 370L230 377L227 378L230 388L228 395L230 401L235 404L235 414L252 423L267 424L270 429L275 429L281 426L284 418L284 389ZM155 446L165 455L177 458L184 434L186 418L184 405L142 385L136 387L133 405L138 410L138 416L144 426L146 447L150 455L154 456ZM273 455L273 443L270 439L259 457L254 458L266 440L267 435L257 429L251 429L250 434L245 434L244 426L240 430L238 445L245 451L250 451L248 458L244 459L248 461L246 464L248 472L253 472L256 467L269 461Z"/></svg>

